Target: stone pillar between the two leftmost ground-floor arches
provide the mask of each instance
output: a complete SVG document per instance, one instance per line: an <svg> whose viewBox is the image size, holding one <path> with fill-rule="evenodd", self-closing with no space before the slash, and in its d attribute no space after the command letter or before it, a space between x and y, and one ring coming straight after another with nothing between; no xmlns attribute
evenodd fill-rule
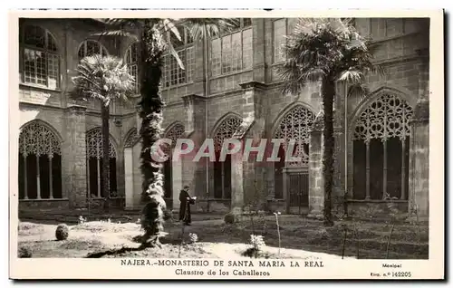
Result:
<svg viewBox="0 0 453 288"><path fill-rule="evenodd" d="M87 169L85 142L86 107L66 109L66 135L63 144L63 197L72 208L86 206Z"/></svg>

